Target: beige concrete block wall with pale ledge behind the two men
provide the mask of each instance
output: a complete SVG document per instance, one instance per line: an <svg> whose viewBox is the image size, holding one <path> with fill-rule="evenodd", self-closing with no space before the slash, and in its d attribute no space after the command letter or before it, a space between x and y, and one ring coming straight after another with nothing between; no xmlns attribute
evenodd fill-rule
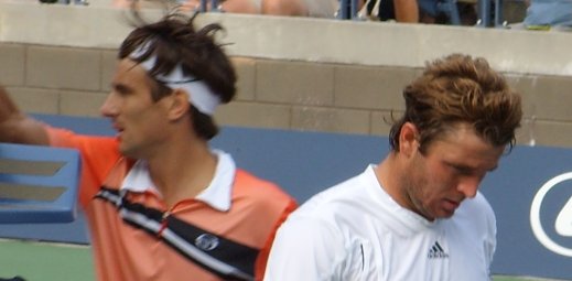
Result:
<svg viewBox="0 0 572 281"><path fill-rule="evenodd" d="M130 30L123 15L0 0L0 83L24 111L98 116ZM199 22L226 26L220 41L239 76L237 99L216 114L222 125L387 134L401 88L428 60L461 52L487 58L522 94L519 143L572 147L570 33L238 14Z"/></svg>

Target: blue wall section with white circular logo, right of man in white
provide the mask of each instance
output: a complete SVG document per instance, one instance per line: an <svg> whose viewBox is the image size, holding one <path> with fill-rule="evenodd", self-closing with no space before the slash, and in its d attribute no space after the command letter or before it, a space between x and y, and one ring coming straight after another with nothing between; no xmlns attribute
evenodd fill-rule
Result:
<svg viewBox="0 0 572 281"><path fill-rule="evenodd" d="M497 216L494 272L572 280L572 234L558 229L572 227L572 181L562 177L570 172L571 149L518 145L485 179L482 191ZM565 250L557 252L550 242Z"/></svg>

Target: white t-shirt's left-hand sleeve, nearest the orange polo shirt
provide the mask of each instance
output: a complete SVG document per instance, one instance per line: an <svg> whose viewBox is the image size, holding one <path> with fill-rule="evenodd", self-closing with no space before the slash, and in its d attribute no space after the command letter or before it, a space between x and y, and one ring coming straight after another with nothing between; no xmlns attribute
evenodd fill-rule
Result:
<svg viewBox="0 0 572 281"><path fill-rule="evenodd" d="M265 280L342 281L345 248L334 225L315 218L289 218L278 230Z"/></svg>

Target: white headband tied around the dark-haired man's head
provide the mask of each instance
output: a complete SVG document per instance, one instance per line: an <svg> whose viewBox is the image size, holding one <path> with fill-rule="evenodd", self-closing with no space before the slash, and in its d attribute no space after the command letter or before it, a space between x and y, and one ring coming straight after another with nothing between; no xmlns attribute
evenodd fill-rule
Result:
<svg viewBox="0 0 572 281"><path fill-rule="evenodd" d="M138 47L133 51L129 57L137 58L147 51L148 44ZM155 65L155 55L149 56L145 61L141 62L140 65L145 68L148 73ZM164 83L172 89L184 89L188 95L188 101L198 109L198 111L212 116L215 112L216 107L220 104L220 98L211 90L211 88L204 83L191 75L184 75L181 64L176 65L175 68L169 75L155 75L154 78Z"/></svg>

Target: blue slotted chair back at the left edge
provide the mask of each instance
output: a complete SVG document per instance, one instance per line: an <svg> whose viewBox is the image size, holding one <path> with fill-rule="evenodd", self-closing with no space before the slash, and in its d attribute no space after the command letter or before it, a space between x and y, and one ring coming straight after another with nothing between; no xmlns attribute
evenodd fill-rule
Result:
<svg viewBox="0 0 572 281"><path fill-rule="evenodd" d="M0 224L73 221L79 167L75 150L0 143Z"/></svg>

